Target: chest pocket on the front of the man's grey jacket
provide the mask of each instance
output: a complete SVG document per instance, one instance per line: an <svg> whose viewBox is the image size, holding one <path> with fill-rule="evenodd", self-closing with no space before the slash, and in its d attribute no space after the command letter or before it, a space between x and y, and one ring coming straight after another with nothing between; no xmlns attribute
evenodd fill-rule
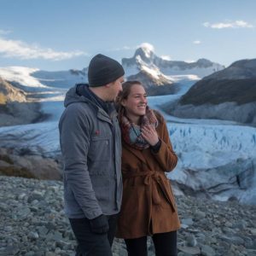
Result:
<svg viewBox="0 0 256 256"><path fill-rule="evenodd" d="M88 157L91 161L106 161L111 155L110 139L106 137L92 137Z"/></svg>

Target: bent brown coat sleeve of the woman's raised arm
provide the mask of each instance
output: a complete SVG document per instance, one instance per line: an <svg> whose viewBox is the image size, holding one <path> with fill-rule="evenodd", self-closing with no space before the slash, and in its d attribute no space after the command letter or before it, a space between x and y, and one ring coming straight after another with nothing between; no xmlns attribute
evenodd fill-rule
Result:
<svg viewBox="0 0 256 256"><path fill-rule="evenodd" d="M160 113L156 113L156 116L159 120L159 127L157 128L157 131L161 144L159 151L157 153L152 151L152 154L164 172L171 172L175 166L177 166L177 155L172 149L172 143L166 126L166 120L160 115Z"/></svg>

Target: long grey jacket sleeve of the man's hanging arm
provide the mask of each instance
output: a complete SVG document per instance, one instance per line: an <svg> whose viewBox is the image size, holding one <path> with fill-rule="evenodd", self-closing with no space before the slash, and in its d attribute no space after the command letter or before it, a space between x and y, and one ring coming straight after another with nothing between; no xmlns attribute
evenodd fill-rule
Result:
<svg viewBox="0 0 256 256"><path fill-rule="evenodd" d="M73 105L73 104L72 104ZM90 122L84 109L69 106L60 120L64 178L86 218L96 218L102 208L96 200L87 166L90 147Z"/></svg>

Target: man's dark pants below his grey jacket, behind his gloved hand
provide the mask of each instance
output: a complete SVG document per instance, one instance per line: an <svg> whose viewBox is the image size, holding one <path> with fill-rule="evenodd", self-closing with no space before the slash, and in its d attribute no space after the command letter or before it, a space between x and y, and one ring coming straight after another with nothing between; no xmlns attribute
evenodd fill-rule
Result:
<svg viewBox="0 0 256 256"><path fill-rule="evenodd" d="M117 215L108 216L109 230L106 234L92 233L88 218L69 218L69 221L78 241L76 256L112 256Z"/></svg>

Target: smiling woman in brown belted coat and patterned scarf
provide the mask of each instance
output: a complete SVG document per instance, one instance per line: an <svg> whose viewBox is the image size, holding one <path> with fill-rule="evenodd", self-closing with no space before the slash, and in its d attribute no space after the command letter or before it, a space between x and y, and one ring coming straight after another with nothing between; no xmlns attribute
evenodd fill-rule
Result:
<svg viewBox="0 0 256 256"><path fill-rule="evenodd" d="M117 237L125 239L129 256L147 255L147 236L152 236L157 256L177 255L180 223L165 175L177 165L177 156L166 121L148 108L146 92L138 81L123 84L117 104L124 183Z"/></svg>

